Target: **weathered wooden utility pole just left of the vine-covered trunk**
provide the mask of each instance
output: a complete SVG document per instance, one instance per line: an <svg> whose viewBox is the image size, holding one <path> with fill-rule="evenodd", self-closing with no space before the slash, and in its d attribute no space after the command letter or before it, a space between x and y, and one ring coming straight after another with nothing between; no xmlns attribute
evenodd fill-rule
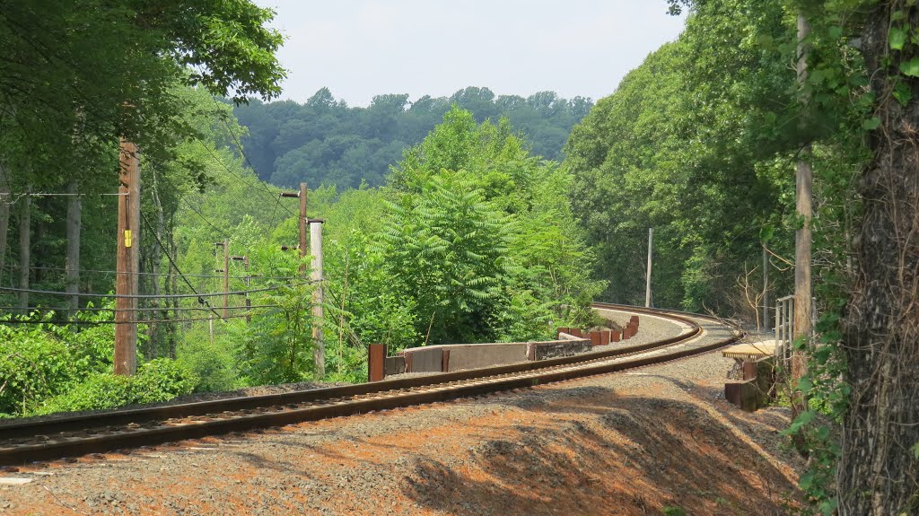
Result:
<svg viewBox="0 0 919 516"><path fill-rule="evenodd" d="M798 14L798 83L803 86L807 80L807 38L811 32L807 19ZM808 101L801 99L801 108L806 109ZM802 224L795 232L795 317L792 338L811 339L811 144L800 152L798 174L795 181L795 206ZM791 354L791 377L797 380L807 372L804 356L796 351Z"/></svg>

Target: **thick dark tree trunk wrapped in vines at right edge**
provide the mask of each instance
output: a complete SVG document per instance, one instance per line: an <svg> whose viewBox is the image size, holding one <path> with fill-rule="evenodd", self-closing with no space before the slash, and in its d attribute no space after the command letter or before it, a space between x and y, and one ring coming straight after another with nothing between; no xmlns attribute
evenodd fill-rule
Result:
<svg viewBox="0 0 919 516"><path fill-rule="evenodd" d="M915 47L890 51L888 43L891 10L907 10L909 28L919 27L919 9L891 4L868 15L862 38L880 126L859 185L864 215L844 320L852 387L836 474L844 515L919 512L911 449L919 443L919 81L899 73ZM912 90L905 107L891 95L895 82Z"/></svg>

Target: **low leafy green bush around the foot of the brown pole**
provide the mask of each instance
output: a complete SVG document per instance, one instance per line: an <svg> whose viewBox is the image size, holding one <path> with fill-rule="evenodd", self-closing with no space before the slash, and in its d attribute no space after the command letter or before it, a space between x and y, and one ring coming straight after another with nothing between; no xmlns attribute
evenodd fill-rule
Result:
<svg viewBox="0 0 919 516"><path fill-rule="evenodd" d="M76 410L118 409L168 401L191 393L199 379L185 365L158 358L141 365L135 376L98 373L64 394L47 399L30 415Z"/></svg>

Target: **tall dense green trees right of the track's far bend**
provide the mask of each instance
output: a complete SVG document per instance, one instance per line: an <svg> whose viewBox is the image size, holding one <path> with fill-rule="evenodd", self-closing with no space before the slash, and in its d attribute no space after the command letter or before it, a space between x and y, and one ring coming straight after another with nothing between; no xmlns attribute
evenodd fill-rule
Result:
<svg viewBox="0 0 919 516"><path fill-rule="evenodd" d="M607 297L643 301L649 227L656 306L756 320L763 246L779 264L789 256L797 149L778 128L789 124L794 74L788 52L760 41L789 39L791 28L779 3L756 5L699 6L680 39L573 130L565 165L602 274L617 278ZM736 23L732 10L751 16ZM776 292L789 287L770 272Z"/></svg>

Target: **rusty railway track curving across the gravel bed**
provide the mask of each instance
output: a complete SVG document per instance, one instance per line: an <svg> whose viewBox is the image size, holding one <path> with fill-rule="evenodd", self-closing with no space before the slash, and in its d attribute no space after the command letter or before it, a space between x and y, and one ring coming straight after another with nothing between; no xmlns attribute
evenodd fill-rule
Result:
<svg viewBox="0 0 919 516"><path fill-rule="evenodd" d="M414 376L344 387L265 396L199 401L165 407L113 410L44 421L0 425L0 466L23 464L316 421L373 410L465 398L519 387L611 373L682 358L719 348L734 339L686 347L672 353L620 360L629 355L665 348L694 339L701 327L693 320L664 310L596 303L595 308L652 314L686 324L681 334L656 342L622 346L596 353L539 362L497 365L482 369ZM707 316L692 317L713 320ZM617 360L613 362L613 360Z"/></svg>

